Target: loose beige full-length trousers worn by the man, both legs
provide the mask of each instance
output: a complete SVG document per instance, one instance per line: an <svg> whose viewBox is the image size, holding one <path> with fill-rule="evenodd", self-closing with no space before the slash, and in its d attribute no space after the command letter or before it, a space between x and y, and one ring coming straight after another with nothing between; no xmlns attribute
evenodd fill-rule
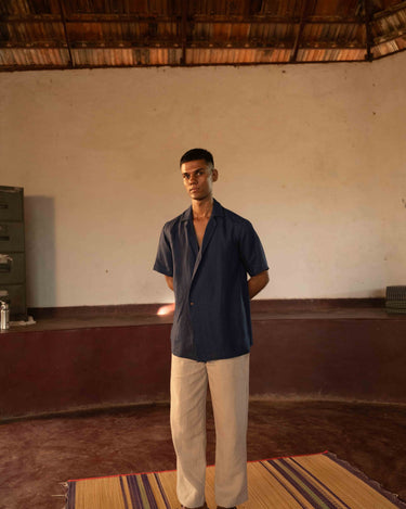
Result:
<svg viewBox="0 0 406 509"><path fill-rule="evenodd" d="M234 507L248 499L249 354L209 362L172 355L171 430L178 498L189 508L205 502L208 385L215 423L215 501Z"/></svg>

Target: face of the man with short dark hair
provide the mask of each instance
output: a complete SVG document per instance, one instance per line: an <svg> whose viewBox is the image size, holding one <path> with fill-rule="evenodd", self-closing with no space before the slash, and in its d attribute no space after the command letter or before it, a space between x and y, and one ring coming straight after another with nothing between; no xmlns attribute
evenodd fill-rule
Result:
<svg viewBox="0 0 406 509"><path fill-rule="evenodd" d="M212 194L218 170L211 168L205 160L189 161L181 166L183 183L192 200L205 200Z"/></svg>

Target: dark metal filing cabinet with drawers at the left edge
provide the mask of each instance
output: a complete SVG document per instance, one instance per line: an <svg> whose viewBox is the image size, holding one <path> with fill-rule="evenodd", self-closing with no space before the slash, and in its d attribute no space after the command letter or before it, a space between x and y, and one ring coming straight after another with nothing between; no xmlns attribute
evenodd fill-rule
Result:
<svg viewBox="0 0 406 509"><path fill-rule="evenodd" d="M12 319L27 319L24 189L0 186L0 290L10 297Z"/></svg>

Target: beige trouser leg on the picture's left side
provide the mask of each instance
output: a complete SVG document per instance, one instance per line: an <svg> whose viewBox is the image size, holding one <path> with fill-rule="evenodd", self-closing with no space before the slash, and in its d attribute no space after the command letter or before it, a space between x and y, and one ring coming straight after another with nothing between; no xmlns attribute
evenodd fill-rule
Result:
<svg viewBox="0 0 406 509"><path fill-rule="evenodd" d="M172 355L170 415L176 493L179 501L189 508L205 502L207 383L205 362Z"/></svg>

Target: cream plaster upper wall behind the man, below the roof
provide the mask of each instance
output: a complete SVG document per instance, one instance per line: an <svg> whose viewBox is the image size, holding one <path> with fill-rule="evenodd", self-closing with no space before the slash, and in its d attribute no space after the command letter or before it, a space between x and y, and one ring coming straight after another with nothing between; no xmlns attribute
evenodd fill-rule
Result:
<svg viewBox="0 0 406 509"><path fill-rule="evenodd" d="M260 297L405 284L405 64L0 74L0 184L25 188L28 305L171 301L152 266L188 206L178 161L194 147L263 241Z"/></svg>

